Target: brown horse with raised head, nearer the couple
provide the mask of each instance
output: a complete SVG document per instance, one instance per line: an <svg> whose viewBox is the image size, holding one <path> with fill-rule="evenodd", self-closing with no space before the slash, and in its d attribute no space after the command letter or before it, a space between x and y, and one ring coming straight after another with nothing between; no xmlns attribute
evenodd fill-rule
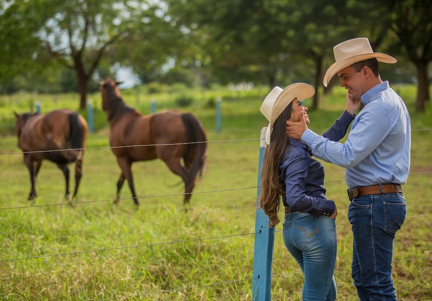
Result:
<svg viewBox="0 0 432 301"><path fill-rule="evenodd" d="M196 176L199 174L201 178L206 162L207 137L200 121L191 113L174 110L142 115L124 103L118 84L120 83L111 79L100 83L102 107L110 124L110 145L158 145L111 148L121 169L115 203L119 201L120 190L126 178L134 203L139 205L131 165L136 161L157 158L163 160L171 172L182 178L185 183L184 204L189 203ZM159 145L172 143L189 144ZM184 166L181 165L182 159Z"/></svg>

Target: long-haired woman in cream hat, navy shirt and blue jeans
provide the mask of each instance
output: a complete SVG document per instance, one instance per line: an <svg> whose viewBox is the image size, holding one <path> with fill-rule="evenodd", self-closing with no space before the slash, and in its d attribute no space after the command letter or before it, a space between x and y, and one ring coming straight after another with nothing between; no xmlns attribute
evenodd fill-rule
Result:
<svg viewBox="0 0 432 301"><path fill-rule="evenodd" d="M333 277L336 261L336 205L325 198L324 168L314 160L306 144L286 136L286 121L309 124L307 108L299 100L312 97L315 89L295 83L275 87L261 106L270 121L266 132L260 204L270 218L270 227L279 223L278 211L285 207L284 241L304 273L303 300L335 300ZM345 111L323 134L338 141L354 117Z"/></svg>

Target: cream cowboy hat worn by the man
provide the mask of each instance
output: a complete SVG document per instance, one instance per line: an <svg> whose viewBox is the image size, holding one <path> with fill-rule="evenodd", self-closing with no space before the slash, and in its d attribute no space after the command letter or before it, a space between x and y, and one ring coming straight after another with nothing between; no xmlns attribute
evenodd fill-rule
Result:
<svg viewBox="0 0 432 301"><path fill-rule="evenodd" d="M396 63L396 59L384 53L374 52L367 38L357 38L342 42L333 47L334 59L336 62L331 65L324 75L324 86L327 87L330 79L337 72L354 63L376 58L383 63Z"/></svg>

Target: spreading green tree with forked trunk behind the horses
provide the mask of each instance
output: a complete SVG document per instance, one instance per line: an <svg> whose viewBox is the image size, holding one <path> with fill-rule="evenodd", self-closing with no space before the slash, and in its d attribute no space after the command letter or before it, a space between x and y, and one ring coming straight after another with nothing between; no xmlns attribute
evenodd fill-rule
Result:
<svg viewBox="0 0 432 301"><path fill-rule="evenodd" d="M16 1L5 10L8 24L0 31L0 38L11 45L9 50L16 45L14 48L34 65L55 60L73 70L83 108L89 81L102 58L115 57L116 46L124 40L129 42L129 47L131 41L139 43L134 40L136 33L141 27L152 26L143 20L153 17L154 12L155 6L145 1ZM16 25L20 28L14 30L17 35L8 36L7 32ZM26 46L30 46L30 50L25 51ZM16 56L14 58L19 61Z"/></svg>

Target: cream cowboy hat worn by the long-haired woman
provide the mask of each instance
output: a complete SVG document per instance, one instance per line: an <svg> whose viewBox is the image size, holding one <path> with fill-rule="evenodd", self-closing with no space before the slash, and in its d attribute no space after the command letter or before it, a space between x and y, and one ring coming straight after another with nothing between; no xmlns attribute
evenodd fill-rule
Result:
<svg viewBox="0 0 432 301"><path fill-rule="evenodd" d="M270 121L266 131L266 143L270 144L270 136L273 129L273 124L285 108L293 101L312 97L315 94L315 89L308 84L295 83L289 85L285 89L274 87L273 90L266 96L260 111Z"/></svg>

